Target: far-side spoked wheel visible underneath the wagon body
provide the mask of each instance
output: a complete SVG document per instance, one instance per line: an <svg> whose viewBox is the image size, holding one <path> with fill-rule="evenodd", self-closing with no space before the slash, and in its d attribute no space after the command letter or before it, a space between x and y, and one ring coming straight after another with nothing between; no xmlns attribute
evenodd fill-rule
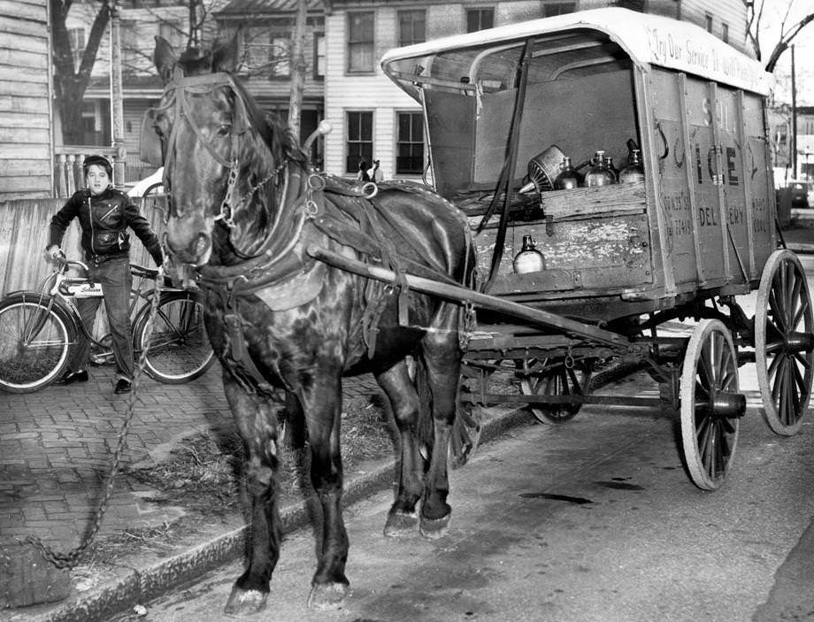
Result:
<svg viewBox="0 0 814 622"><path fill-rule="evenodd" d="M549 360L543 361L549 365ZM520 379L520 393L523 395L587 395L590 390L591 371L589 367L578 368L561 362L552 371L543 375L524 375ZM541 423L565 423L573 419L582 408L581 403L529 404L534 417Z"/></svg>

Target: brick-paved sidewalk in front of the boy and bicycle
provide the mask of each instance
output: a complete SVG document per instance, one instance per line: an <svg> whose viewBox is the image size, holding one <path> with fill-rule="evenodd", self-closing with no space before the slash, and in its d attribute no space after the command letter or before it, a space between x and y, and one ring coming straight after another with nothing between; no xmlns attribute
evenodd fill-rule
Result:
<svg viewBox="0 0 814 622"><path fill-rule="evenodd" d="M34 394L0 392L0 546L36 535L65 551L88 530L127 412L127 395L113 393L111 368L92 367L90 375L88 383ZM346 396L378 392L371 376L345 380ZM218 365L187 384L145 377L122 466L155 463L181 439L232 426ZM173 508L142 503L149 492L119 476L100 533L173 518Z"/></svg>

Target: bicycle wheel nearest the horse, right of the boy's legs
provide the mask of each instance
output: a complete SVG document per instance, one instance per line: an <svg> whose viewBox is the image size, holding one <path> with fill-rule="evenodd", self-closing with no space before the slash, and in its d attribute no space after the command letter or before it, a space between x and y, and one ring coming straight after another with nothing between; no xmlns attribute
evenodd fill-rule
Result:
<svg viewBox="0 0 814 622"><path fill-rule="evenodd" d="M143 349L149 319L148 304L136 320L134 346L137 351ZM200 298L182 292L161 296L144 365L150 376L159 382L180 384L203 375L214 361Z"/></svg>

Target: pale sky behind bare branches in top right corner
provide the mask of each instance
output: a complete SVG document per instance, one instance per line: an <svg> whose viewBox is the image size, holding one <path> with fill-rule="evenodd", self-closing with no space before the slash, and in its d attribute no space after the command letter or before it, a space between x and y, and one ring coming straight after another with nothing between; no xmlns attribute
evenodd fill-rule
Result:
<svg viewBox="0 0 814 622"><path fill-rule="evenodd" d="M790 7L787 24L814 12L814 0L764 0L763 27L760 42L764 58L779 41L779 28ZM797 105L814 106L814 22L810 22L792 41L795 45L795 82ZM777 80L775 101L791 104L791 50L786 50L774 72Z"/></svg>

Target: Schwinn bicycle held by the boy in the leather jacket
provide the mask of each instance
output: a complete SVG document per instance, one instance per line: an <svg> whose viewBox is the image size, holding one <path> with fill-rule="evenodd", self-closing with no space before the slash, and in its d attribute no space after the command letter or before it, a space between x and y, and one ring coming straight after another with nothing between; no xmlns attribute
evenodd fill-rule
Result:
<svg viewBox="0 0 814 622"><path fill-rule="evenodd" d="M0 389L31 393L47 387L65 372L79 331L105 349L104 337L95 339L82 324L73 299L102 297L102 288L88 279L88 266L57 259L57 268L36 291L16 291L0 300ZM69 276L71 268L85 276ZM130 317L134 356L146 341L153 289L142 291L144 280L156 280L157 270L131 264L138 279L132 290ZM136 309L139 301L141 306ZM107 348L109 350L109 348ZM104 355L103 355L104 356ZM214 363L204 329L204 305L196 292L161 289L145 371L155 380L180 384L195 380Z"/></svg>

